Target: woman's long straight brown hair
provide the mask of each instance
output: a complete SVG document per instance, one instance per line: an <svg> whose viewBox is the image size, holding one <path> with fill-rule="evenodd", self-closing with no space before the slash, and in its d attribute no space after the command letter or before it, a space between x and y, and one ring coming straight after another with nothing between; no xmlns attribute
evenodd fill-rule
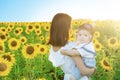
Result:
<svg viewBox="0 0 120 80"><path fill-rule="evenodd" d="M50 40L48 44L61 47L67 43L71 20L71 16L65 13L58 13L53 17L50 26Z"/></svg>

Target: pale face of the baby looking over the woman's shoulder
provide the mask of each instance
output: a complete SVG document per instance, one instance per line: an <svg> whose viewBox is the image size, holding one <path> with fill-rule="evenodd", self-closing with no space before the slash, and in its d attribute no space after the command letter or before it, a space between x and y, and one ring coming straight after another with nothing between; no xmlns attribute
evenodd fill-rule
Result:
<svg viewBox="0 0 120 80"><path fill-rule="evenodd" d="M91 40L91 34L87 30L80 30L78 31L77 40L80 41L80 43L87 43Z"/></svg>

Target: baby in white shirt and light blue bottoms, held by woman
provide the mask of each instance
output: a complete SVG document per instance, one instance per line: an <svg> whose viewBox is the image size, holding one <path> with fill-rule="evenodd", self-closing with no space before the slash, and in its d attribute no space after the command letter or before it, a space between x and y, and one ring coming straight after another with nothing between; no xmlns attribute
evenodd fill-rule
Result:
<svg viewBox="0 0 120 80"><path fill-rule="evenodd" d="M69 56L80 55L84 61L84 64L89 68L96 67L96 52L92 43L93 38L93 27L85 23L81 25L78 29L76 35L76 41L73 42L72 49L62 49L61 53ZM90 76L83 76L80 80L89 80Z"/></svg>

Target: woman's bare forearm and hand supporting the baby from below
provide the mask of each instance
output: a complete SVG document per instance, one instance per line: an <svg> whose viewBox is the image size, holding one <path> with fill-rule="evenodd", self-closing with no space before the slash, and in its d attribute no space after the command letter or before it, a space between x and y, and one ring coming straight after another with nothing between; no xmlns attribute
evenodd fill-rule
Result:
<svg viewBox="0 0 120 80"><path fill-rule="evenodd" d="M72 58L75 61L82 75L91 76L95 72L95 68L87 68L85 66L80 56L72 56Z"/></svg>

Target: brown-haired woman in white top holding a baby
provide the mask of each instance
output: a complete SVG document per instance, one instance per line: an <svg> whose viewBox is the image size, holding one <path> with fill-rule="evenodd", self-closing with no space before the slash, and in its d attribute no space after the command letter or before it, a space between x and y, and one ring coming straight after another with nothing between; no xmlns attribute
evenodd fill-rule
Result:
<svg viewBox="0 0 120 80"><path fill-rule="evenodd" d="M58 13L54 16L48 42L51 44L49 60L53 66L61 67L65 73L64 80L82 80L82 75L91 75L95 69L85 67L79 56L70 57L60 52L61 49L71 48L71 42L68 42L71 21L72 18L68 14Z"/></svg>

